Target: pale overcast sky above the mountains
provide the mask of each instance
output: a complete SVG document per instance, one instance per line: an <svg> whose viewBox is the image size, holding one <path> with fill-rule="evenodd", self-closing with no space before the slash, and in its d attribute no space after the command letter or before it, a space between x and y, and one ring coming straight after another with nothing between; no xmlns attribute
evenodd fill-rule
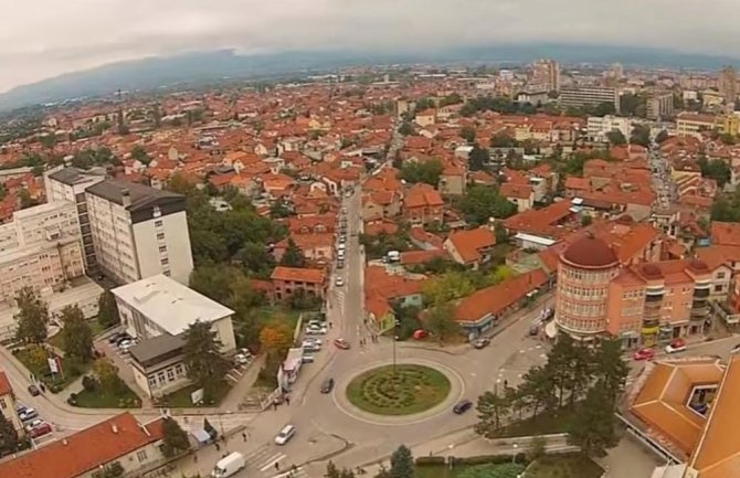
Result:
<svg viewBox="0 0 740 478"><path fill-rule="evenodd" d="M647 45L736 55L740 0L0 0L0 92L193 50Z"/></svg>

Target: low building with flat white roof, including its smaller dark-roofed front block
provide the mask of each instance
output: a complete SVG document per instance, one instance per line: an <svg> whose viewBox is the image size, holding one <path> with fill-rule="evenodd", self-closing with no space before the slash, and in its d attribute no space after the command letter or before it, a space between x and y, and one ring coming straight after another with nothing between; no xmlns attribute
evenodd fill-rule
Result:
<svg viewBox="0 0 740 478"><path fill-rule="evenodd" d="M141 339L130 349L130 364L137 385L149 396L190 383L182 363L182 333L192 323L210 323L222 352L236 349L234 311L162 274L112 291L127 332Z"/></svg>

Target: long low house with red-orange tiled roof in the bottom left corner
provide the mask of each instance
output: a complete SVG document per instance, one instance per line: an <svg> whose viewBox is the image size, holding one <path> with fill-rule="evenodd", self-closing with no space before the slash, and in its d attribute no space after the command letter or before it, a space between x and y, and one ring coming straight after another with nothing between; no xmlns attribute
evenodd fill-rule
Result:
<svg viewBox="0 0 740 478"><path fill-rule="evenodd" d="M112 467L139 476L162 465L161 418L139 423L128 412L0 463L8 478L102 478Z"/></svg>

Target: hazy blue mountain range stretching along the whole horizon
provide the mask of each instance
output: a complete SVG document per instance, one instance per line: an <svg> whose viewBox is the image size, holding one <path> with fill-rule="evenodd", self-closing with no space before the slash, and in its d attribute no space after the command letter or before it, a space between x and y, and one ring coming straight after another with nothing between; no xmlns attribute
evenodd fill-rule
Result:
<svg viewBox="0 0 740 478"><path fill-rule="evenodd" d="M573 44L495 45L448 49L424 53L359 51L287 52L240 55L231 50L148 57L68 73L0 95L0 110L68 98L110 95L117 89L149 91L162 86L199 85L224 78L247 79L293 73L327 72L340 66L412 63L522 63L539 57L563 63L718 70L738 64L737 57L688 54L657 49Z"/></svg>

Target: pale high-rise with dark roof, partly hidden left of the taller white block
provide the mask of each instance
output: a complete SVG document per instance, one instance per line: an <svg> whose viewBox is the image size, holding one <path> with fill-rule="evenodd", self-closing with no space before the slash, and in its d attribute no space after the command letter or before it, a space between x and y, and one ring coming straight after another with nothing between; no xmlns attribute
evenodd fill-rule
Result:
<svg viewBox="0 0 740 478"><path fill-rule="evenodd" d="M96 267L95 246L93 245L93 233L89 227L85 189L103 181L103 174L91 174L76 168L56 168L44 176L46 187L46 201L68 201L77 208L77 221L80 234L84 248L85 269L92 270Z"/></svg>

